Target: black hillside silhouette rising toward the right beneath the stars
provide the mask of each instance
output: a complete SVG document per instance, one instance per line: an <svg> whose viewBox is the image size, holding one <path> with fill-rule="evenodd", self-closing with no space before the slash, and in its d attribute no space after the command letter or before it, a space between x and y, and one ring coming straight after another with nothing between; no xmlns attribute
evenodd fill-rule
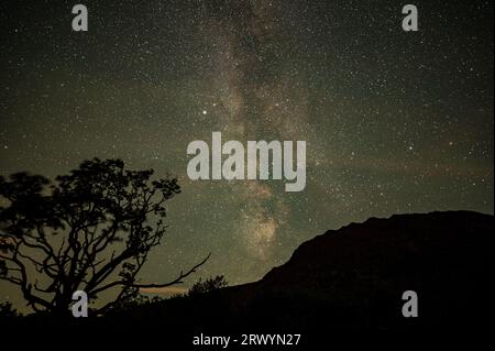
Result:
<svg viewBox="0 0 495 351"><path fill-rule="evenodd" d="M77 322L180 330L185 339L208 331L483 328L493 311L493 216L470 211L372 218L302 243L258 282ZM405 290L418 295L417 318L402 315Z"/></svg>

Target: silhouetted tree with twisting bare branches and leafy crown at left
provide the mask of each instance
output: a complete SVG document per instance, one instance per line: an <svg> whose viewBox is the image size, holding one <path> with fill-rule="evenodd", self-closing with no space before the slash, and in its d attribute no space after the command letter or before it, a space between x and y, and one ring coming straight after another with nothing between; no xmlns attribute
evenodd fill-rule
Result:
<svg viewBox="0 0 495 351"><path fill-rule="evenodd" d="M55 182L16 173L0 177L0 279L19 285L36 311L65 315L75 290L90 300L113 290L100 314L136 298L142 287L182 283L197 265L163 284L138 273L166 226L165 201L180 193L176 178L125 169L121 160L86 161Z"/></svg>

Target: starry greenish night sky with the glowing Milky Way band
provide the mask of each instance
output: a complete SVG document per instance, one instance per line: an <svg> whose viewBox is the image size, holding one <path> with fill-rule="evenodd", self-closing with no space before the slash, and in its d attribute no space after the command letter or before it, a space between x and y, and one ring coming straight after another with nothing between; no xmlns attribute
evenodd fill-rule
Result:
<svg viewBox="0 0 495 351"><path fill-rule="evenodd" d="M407 1L81 1L73 32L77 3L0 4L0 174L98 156L177 176L143 282L211 252L188 284L246 283L351 221L493 213L492 1L414 1L418 32ZM187 145L215 131L306 141L305 190L189 180Z"/></svg>

